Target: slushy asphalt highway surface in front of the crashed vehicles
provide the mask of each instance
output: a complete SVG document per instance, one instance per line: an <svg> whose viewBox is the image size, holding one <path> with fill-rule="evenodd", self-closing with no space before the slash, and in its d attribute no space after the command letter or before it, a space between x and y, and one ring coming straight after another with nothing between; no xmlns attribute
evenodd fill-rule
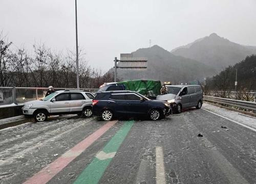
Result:
<svg viewBox="0 0 256 184"><path fill-rule="evenodd" d="M256 183L256 133L202 109L26 123L0 130L0 183Z"/></svg>

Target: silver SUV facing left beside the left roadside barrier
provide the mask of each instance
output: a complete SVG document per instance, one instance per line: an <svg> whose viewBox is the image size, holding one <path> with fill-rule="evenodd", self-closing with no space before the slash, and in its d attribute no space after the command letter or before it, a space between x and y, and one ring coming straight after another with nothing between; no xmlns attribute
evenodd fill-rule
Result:
<svg viewBox="0 0 256 184"><path fill-rule="evenodd" d="M35 121L47 120L50 115L82 114L92 116L94 95L81 90L56 91L41 100L24 103L23 114L34 117Z"/></svg>

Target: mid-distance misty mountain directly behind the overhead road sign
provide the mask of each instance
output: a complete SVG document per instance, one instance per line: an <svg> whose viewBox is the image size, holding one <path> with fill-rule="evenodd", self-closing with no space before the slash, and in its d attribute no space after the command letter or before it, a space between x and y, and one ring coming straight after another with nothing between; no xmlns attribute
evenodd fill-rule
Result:
<svg viewBox="0 0 256 184"><path fill-rule="evenodd" d="M124 71L118 69L118 77L121 80L145 78L172 81L175 84L199 80L216 74L213 67L195 60L175 56L158 45L150 48L140 48L132 52L132 54L133 57L147 57L147 71Z"/></svg>

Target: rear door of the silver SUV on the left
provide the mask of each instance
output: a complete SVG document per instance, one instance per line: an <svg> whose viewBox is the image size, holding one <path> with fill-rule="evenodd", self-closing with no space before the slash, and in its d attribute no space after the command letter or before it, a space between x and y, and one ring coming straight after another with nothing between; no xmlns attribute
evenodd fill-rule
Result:
<svg viewBox="0 0 256 184"><path fill-rule="evenodd" d="M70 93L70 112L82 111L83 104L86 103L86 98L81 93Z"/></svg>

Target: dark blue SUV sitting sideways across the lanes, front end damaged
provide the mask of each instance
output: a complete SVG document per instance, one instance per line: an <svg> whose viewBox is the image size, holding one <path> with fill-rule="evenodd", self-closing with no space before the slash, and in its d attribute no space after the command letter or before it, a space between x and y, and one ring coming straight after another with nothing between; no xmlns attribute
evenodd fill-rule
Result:
<svg viewBox="0 0 256 184"><path fill-rule="evenodd" d="M124 116L159 120L172 114L172 108L166 101L151 100L134 91L104 91L93 99L93 114L105 121Z"/></svg>

